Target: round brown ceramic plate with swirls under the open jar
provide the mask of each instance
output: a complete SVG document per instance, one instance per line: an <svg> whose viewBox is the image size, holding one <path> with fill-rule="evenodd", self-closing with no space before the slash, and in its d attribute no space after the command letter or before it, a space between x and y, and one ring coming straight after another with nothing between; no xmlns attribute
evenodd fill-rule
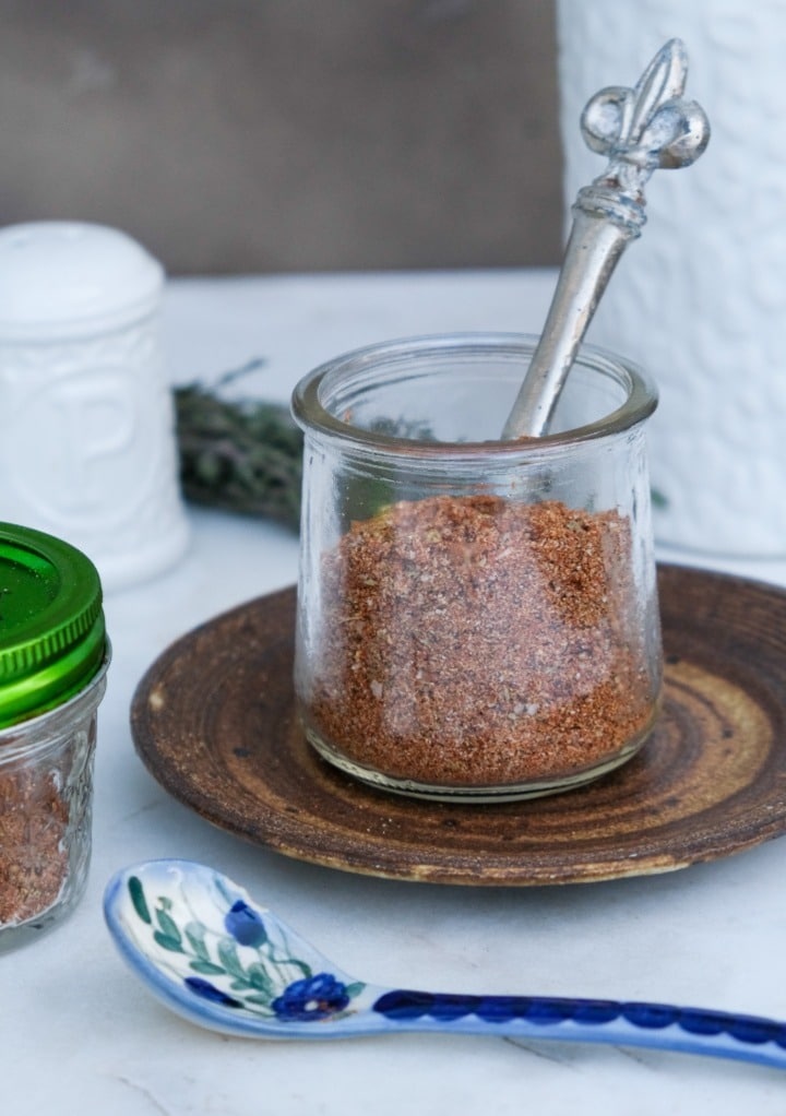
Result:
<svg viewBox="0 0 786 1116"><path fill-rule="evenodd" d="M668 872L786 829L786 591L659 571L662 716L588 787L498 806L372 790L320 760L293 712L295 590L169 647L139 683L134 740L202 817L316 864L399 879L524 886Z"/></svg>

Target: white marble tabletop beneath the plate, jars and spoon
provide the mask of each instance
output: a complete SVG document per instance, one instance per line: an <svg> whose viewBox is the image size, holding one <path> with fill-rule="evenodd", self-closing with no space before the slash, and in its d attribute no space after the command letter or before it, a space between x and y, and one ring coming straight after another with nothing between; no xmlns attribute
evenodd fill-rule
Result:
<svg viewBox="0 0 786 1116"><path fill-rule="evenodd" d="M357 344L453 328L536 329L552 280L499 272L176 281L166 304L173 374L210 379L264 356L258 389L284 400L312 365ZM783 1072L744 1064L467 1037L263 1045L202 1032L147 994L114 951L101 894L123 865L182 856L243 882L361 978L786 1016L782 841L599 885L438 887L290 860L171 799L133 748L137 681L176 636L292 583L297 568L295 538L282 529L208 512L191 520L191 549L176 569L107 600L115 661L99 722L90 881L67 923L0 956L2 1110L782 1116ZM786 565L747 571L786 585Z"/></svg>

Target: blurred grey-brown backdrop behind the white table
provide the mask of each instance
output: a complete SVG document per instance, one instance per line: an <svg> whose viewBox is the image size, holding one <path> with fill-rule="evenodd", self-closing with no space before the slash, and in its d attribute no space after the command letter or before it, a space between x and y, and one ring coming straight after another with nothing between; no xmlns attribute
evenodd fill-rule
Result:
<svg viewBox="0 0 786 1116"><path fill-rule="evenodd" d="M554 0L0 0L0 136L172 275L560 257Z"/></svg>

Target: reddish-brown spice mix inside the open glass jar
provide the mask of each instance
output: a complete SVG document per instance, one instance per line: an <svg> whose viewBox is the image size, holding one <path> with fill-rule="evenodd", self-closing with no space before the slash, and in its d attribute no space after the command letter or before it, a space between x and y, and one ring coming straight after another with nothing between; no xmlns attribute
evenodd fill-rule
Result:
<svg viewBox="0 0 786 1116"><path fill-rule="evenodd" d="M615 767L657 705L632 565L627 518L556 500L437 496L353 522L322 559L307 733L415 790Z"/></svg>

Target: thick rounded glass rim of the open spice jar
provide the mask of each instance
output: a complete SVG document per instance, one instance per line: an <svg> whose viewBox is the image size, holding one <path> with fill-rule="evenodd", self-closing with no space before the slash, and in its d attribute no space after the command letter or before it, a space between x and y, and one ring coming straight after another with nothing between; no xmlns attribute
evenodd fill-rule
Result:
<svg viewBox="0 0 786 1116"><path fill-rule="evenodd" d="M324 406L326 387L334 386L351 374L367 372L379 365L390 367L416 357L482 356L484 353L531 357L538 343L533 334L517 333L446 333L425 334L375 343L351 349L308 373L295 385L291 408L295 422L310 433L321 432L346 442L361 444L366 450L406 452L425 456L473 458L487 455L521 455L536 451L556 451L578 442L590 442L630 431L648 419L658 405L658 391L649 375L634 362L595 345L581 345L575 364L596 368L625 386L627 398L614 411L594 422L573 430L538 437L498 442L425 442L387 432L353 426L336 417Z"/></svg>

